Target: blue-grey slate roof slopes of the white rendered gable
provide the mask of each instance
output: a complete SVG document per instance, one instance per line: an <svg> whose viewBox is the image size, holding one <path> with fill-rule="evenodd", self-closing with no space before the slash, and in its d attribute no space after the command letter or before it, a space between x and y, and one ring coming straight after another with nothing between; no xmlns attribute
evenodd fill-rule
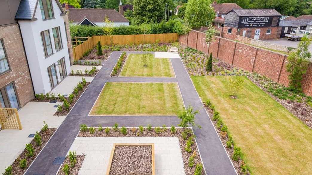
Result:
<svg viewBox="0 0 312 175"><path fill-rule="evenodd" d="M62 8L59 0L55 1L58 7L60 8L61 12L65 14L64 9ZM29 20L33 19L37 3L38 0L21 0L15 15L15 19L29 19Z"/></svg>

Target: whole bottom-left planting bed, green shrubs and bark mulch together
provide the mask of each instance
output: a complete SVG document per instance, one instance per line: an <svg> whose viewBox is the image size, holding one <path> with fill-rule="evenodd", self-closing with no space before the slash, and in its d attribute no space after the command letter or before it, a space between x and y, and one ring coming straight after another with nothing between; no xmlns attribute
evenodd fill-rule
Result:
<svg viewBox="0 0 312 175"><path fill-rule="evenodd" d="M30 144L26 144L26 148L14 160L12 165L6 168L5 173L10 174L11 172L14 175L24 174L55 131L56 128L47 128L47 125L44 125L42 130L36 133Z"/></svg>

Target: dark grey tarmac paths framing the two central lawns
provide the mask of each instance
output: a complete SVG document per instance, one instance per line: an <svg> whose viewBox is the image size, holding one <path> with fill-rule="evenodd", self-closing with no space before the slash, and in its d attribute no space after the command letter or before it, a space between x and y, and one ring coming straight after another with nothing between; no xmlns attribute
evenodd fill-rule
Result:
<svg viewBox="0 0 312 175"><path fill-rule="evenodd" d="M104 66L101 68L100 72L94 77L89 87L82 94L46 147L41 151L32 166L27 170L26 174L56 174L60 165L52 163L56 157L66 156L80 130L80 124L86 124L88 126L98 126L101 124L103 127L111 127L117 122L120 126L137 127L139 125L146 126L147 124L152 124L153 126L162 126L165 124L170 126L179 123L179 119L174 116L88 116L88 113L100 94L105 82L123 82L124 80L127 80L127 82L178 82L185 106L191 105L195 110L199 111L199 114L196 115L196 123L200 124L202 129L193 128L193 131L196 135L198 149L206 173L227 175L237 174L206 110L202 105L197 91L188 76L182 60L176 58L177 54L173 55L174 58L170 57L176 78L109 77L121 53L122 51L114 51L109 59L103 61Z"/></svg>

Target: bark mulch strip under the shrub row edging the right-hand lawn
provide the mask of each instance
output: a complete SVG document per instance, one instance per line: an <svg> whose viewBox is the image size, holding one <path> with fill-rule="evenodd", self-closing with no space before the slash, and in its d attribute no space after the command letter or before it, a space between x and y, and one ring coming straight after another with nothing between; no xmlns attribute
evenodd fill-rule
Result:
<svg viewBox="0 0 312 175"><path fill-rule="evenodd" d="M207 113L209 114L209 117L212 117L213 116L213 111L208 106L206 106L205 104L203 104L203 105L205 106L205 109L206 109ZM231 158L232 155L233 155L233 152L234 152L234 147L232 145L231 148L227 148L226 142L227 142L227 140L229 140L229 136L227 135L226 132L222 132L220 129L217 128L217 121L213 121L211 118L210 118L210 120L212 121L212 123L213 123L213 125L214 125L214 127L215 127L215 129L216 129L216 131L217 131L217 133L218 133L218 135L220 137L220 139L221 139L221 142L222 142L225 150L227 151L227 154ZM241 171L241 166L244 165L244 161L243 160L239 159L238 161L234 161L234 160L231 159L231 162L234 165L234 168L236 169L237 174L239 174L239 175L248 175L248 174L250 174L249 171L246 171L246 172L242 172Z"/></svg>

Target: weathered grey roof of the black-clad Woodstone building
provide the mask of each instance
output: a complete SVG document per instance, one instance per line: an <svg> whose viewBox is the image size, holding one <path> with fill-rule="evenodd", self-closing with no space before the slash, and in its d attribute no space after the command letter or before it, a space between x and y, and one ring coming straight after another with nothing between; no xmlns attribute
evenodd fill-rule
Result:
<svg viewBox="0 0 312 175"><path fill-rule="evenodd" d="M282 16L275 9L232 9L238 16Z"/></svg>

